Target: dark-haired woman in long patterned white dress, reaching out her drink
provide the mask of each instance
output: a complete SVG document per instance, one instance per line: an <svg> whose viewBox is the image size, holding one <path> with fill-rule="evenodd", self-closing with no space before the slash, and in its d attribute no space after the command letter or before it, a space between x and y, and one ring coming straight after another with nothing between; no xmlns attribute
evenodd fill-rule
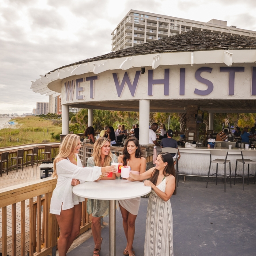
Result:
<svg viewBox="0 0 256 256"><path fill-rule="evenodd" d="M158 154L155 168L143 174L130 173L128 180L144 181L151 186L148 200L144 256L173 256L173 215L170 197L176 194L173 157Z"/></svg>

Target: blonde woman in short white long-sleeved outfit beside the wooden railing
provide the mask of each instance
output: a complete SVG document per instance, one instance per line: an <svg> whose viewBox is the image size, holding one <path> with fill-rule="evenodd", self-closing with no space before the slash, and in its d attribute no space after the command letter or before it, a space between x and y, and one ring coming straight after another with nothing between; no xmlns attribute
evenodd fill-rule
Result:
<svg viewBox="0 0 256 256"><path fill-rule="evenodd" d="M84 198L76 196L72 192L72 186L85 181L96 181L109 172L115 172L113 166L83 168L78 157L80 147L80 137L68 134L60 144L59 154L53 162L53 177L57 178L57 184L53 190L50 213L56 215L60 226L60 256L66 256L80 231Z"/></svg>

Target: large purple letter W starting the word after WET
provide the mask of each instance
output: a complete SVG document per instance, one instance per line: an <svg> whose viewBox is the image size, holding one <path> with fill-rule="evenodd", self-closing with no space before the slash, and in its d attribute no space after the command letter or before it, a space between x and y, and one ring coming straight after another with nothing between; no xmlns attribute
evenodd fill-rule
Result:
<svg viewBox="0 0 256 256"><path fill-rule="evenodd" d="M137 89L138 82L139 82L139 76L140 76L140 71L136 71L134 81L133 81L133 83L131 83L131 80L129 78L128 73L125 72L124 73L124 78L122 80L122 83L120 84L118 76L117 76L117 73L113 73L113 78L114 78L115 85L116 85L116 88L117 88L117 95L118 95L118 97L121 97L122 92L124 90L125 83L127 83L132 96L134 96L135 92L136 92L136 89Z"/></svg>

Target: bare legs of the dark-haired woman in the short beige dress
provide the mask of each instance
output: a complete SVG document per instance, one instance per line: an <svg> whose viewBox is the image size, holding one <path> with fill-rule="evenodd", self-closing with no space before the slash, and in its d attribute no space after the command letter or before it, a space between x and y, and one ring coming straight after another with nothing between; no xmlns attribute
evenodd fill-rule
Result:
<svg viewBox="0 0 256 256"><path fill-rule="evenodd" d="M123 227L124 227L124 233L127 240L126 250L128 250L129 255L132 255L132 244L134 240L134 234L135 234L135 221L137 215L133 215L130 212L128 212L124 207L122 207L119 203L120 211L123 218Z"/></svg>

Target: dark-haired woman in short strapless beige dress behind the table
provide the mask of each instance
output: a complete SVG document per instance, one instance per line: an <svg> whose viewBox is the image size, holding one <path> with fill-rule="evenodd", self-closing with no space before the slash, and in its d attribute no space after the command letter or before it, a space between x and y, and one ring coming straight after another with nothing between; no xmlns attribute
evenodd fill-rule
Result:
<svg viewBox="0 0 256 256"><path fill-rule="evenodd" d="M123 154L118 157L118 162L124 166L130 166L132 171L142 174L146 171L146 159L143 158L139 147L139 141L136 138L130 138L124 145ZM135 234L135 221L139 211L140 197L118 200L120 211L123 218L124 233L127 245L124 249L124 255L135 255L132 251L132 243Z"/></svg>

